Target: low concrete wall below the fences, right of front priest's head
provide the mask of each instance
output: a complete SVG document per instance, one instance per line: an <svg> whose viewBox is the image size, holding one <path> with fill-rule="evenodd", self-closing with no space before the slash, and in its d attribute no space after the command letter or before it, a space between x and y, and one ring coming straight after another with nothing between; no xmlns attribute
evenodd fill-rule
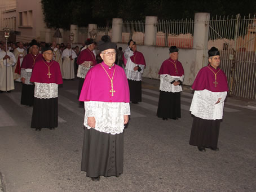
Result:
<svg viewBox="0 0 256 192"><path fill-rule="evenodd" d="M127 48L127 44L117 43L117 47L122 47L123 51ZM155 47L155 46L140 46L137 45L137 50L142 52L146 68L143 77L159 79L159 69L162 62L169 58L169 47ZM179 49L179 59L184 68L184 82L183 84L191 86L196 77L196 50Z"/></svg>

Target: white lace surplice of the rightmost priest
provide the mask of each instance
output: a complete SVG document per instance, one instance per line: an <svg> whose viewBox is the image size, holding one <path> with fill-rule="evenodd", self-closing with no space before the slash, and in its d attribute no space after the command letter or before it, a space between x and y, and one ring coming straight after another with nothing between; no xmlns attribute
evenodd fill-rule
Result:
<svg viewBox="0 0 256 192"><path fill-rule="evenodd" d="M224 100L227 91L211 92L208 90L195 91L191 102L191 114L201 119L215 120L222 119ZM215 104L221 98L218 104Z"/></svg>

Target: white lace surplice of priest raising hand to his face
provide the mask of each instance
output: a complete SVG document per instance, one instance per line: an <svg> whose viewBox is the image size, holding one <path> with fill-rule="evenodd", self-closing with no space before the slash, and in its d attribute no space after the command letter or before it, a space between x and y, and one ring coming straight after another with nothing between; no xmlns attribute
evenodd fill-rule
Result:
<svg viewBox="0 0 256 192"><path fill-rule="evenodd" d="M144 71L145 65L137 65L133 61L131 61L130 57L134 55L134 52L131 51L130 47L127 47L124 53L125 59L127 60L126 66L125 66L125 74L127 79L133 80L133 81L142 81L142 74ZM138 70L133 70L135 66L139 66L140 72Z"/></svg>

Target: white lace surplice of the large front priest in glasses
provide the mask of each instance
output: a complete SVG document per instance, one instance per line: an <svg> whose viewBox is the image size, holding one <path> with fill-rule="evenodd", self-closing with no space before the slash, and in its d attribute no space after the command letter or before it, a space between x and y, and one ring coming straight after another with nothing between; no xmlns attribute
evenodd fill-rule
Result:
<svg viewBox="0 0 256 192"><path fill-rule="evenodd" d="M83 124L90 129L87 118L94 117L95 130L115 135L123 132L125 127L123 115L130 115L129 102L85 101L85 122Z"/></svg>

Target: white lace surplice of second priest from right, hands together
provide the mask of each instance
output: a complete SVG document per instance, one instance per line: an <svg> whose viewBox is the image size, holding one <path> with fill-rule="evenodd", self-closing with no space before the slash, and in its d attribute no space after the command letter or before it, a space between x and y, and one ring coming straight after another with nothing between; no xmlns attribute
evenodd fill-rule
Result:
<svg viewBox="0 0 256 192"><path fill-rule="evenodd" d="M179 76L171 76L169 74L162 74L160 75L160 91L166 91L166 92L181 92L182 86L174 86L174 84L171 84L173 81L181 81L183 82L184 75L182 77Z"/></svg>

